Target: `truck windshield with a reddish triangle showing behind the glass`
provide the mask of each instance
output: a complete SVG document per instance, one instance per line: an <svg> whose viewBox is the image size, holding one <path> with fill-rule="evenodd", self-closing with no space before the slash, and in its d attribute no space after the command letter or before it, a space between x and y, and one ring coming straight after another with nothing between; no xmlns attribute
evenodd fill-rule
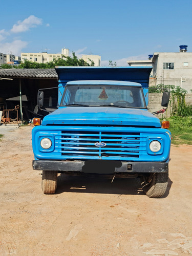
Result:
<svg viewBox="0 0 192 256"><path fill-rule="evenodd" d="M143 91L136 86L67 85L61 106L116 106L146 108Z"/></svg>

